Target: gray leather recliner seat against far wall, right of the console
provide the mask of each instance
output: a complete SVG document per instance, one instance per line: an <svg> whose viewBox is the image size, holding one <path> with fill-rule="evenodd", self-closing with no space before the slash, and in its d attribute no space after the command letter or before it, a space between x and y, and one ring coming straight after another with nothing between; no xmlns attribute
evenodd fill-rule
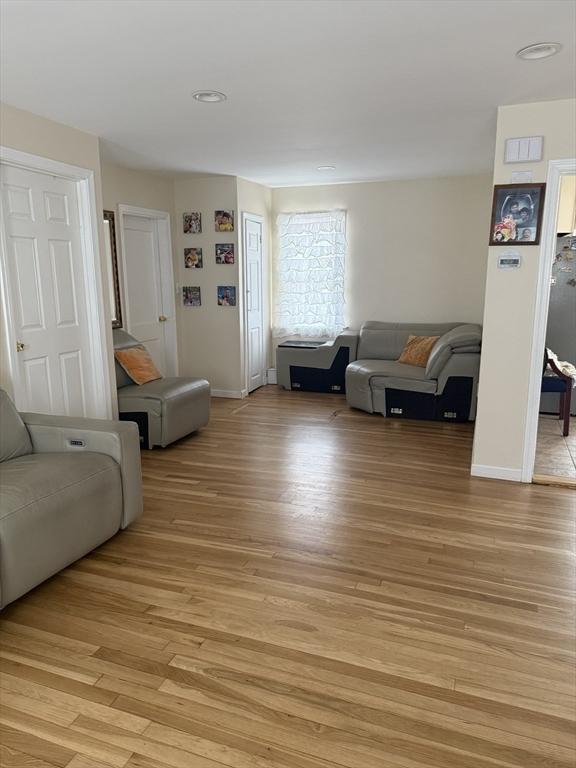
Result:
<svg viewBox="0 0 576 768"><path fill-rule="evenodd" d="M408 336L439 336L426 368L398 362ZM346 399L368 413L473 420L482 327L470 323L362 325L357 357L346 369Z"/></svg>

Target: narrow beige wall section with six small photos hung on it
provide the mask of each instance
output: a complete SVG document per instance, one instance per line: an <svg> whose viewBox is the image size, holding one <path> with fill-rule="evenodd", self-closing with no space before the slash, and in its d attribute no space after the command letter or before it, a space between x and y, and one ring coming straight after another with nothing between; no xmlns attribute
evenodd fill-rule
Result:
<svg viewBox="0 0 576 768"><path fill-rule="evenodd" d="M183 376L206 377L219 393L239 395L242 381L242 350L240 344L240 307L219 307L216 302L218 285L235 285L239 298L237 183L234 176L206 178L178 178L174 183L175 199L175 279L180 289L184 285L198 285L202 294L201 307L183 307L181 295L177 299L179 329L180 373ZM214 211L232 209L235 216L234 232L215 232ZM202 213L202 234L185 235L182 214L186 211ZM234 265L216 264L216 243L234 243ZM204 261L202 269L185 269L184 248L201 247Z"/></svg>

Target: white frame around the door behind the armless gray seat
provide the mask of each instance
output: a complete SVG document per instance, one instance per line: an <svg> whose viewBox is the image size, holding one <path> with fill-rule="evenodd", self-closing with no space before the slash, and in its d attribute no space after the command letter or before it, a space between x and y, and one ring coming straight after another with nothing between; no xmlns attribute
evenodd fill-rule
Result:
<svg viewBox="0 0 576 768"><path fill-rule="evenodd" d="M166 341L166 368L168 376L178 376L178 333L176 328L176 284L174 282L174 264L172 262L172 234L170 230L170 214L168 211L156 211L152 208L139 208L134 205L118 205L118 230L120 232L119 260L122 265L122 280L120 293L122 296L122 312L126 328L130 328L130 307L126 300L126 273L124 217L140 216L143 219L153 219L158 227L158 250L160 256L160 272L163 278L160 281L162 290L162 308L168 317L165 323Z"/></svg>

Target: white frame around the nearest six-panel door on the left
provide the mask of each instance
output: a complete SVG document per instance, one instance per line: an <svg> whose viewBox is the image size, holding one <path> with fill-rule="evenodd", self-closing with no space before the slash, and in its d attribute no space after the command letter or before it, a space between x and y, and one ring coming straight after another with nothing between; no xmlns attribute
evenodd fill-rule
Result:
<svg viewBox="0 0 576 768"><path fill-rule="evenodd" d="M58 160L51 160L47 157L32 155L28 152L20 152L17 149L5 146L0 146L0 164L21 168L26 171L57 176L72 181L76 185L78 206L80 209L79 217L82 260L84 264L84 290L88 315L90 354L92 357L92 383L96 397L95 405L101 418L114 418L117 413L116 389L112 386L114 377L111 368L111 359L108 354L108 339L110 339L111 342L112 334L111 328L109 328L109 317L106 312L106 296L102 282L102 257L98 237L98 223L100 217L96 205L94 171L88 168L80 168L76 165L62 163ZM16 338L15 314L8 286L9 260L4 228L2 228L1 240L0 280L4 305L8 367L14 389L14 401L16 407L19 407L20 393L24 390L20 380L20 369L17 360L16 346L14 344Z"/></svg>

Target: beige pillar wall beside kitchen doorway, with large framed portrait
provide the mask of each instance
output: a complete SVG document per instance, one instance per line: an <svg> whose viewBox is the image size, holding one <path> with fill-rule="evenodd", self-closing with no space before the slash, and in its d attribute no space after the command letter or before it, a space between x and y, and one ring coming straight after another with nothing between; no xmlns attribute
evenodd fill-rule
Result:
<svg viewBox="0 0 576 768"><path fill-rule="evenodd" d="M544 136L541 162L505 165L504 141L515 136ZM574 99L500 107L494 183L510 182L513 171L531 170L534 182L546 181L548 162L576 157ZM546 205L555 204L547 200ZM536 289L542 249L514 246L522 267L501 270L501 249L489 248L484 308L484 339L473 472L486 468L517 475L522 467L528 410L528 382L534 332Z"/></svg>

